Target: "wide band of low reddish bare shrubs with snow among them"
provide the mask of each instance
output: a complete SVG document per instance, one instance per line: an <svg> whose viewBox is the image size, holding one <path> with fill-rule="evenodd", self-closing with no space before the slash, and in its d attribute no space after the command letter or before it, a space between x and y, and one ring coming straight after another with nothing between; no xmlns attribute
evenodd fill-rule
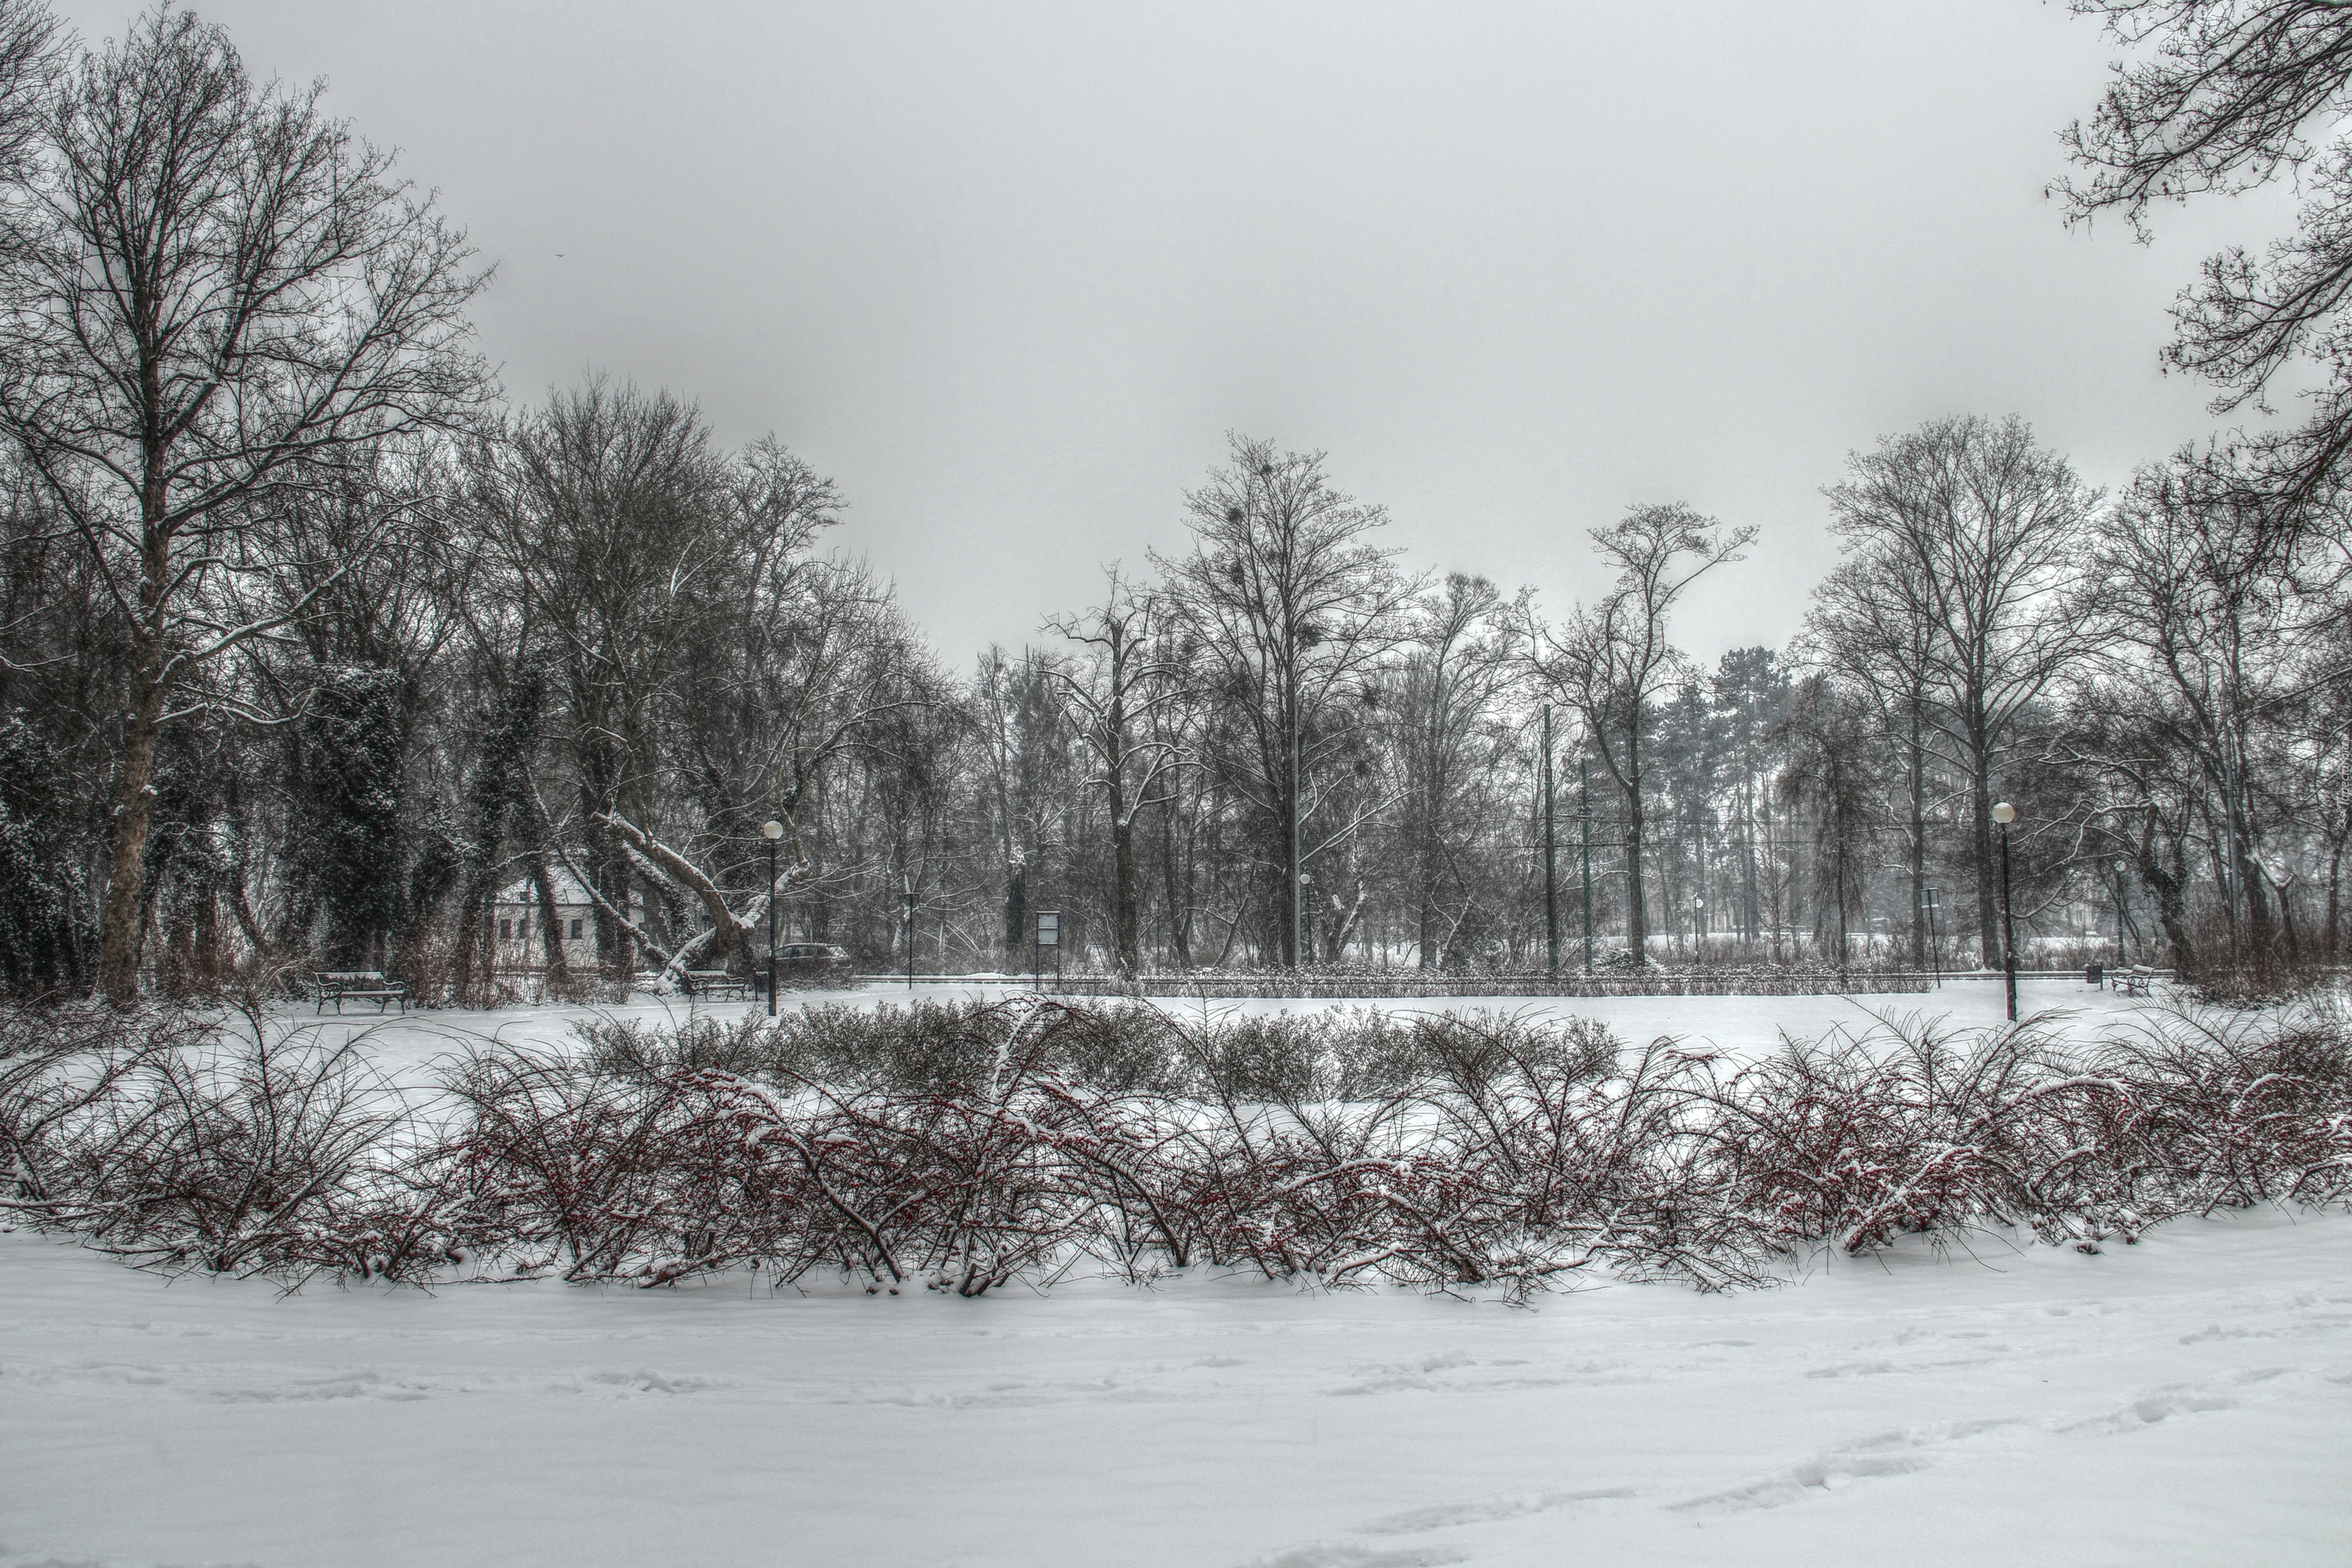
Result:
<svg viewBox="0 0 2352 1568"><path fill-rule="evenodd" d="M299 1281L750 1267L981 1295L1082 1265L1729 1288L1776 1253L2352 1197L2314 1013L1879 1025L1726 1072L1508 1013L1277 1018L1021 997L485 1044L430 1100L259 1016L0 1016L7 1208L153 1267Z"/></svg>

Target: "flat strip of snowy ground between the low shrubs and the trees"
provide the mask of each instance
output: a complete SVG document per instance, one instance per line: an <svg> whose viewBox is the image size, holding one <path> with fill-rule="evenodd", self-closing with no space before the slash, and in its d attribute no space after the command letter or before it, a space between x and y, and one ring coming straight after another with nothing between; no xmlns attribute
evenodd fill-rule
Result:
<svg viewBox="0 0 2352 1568"><path fill-rule="evenodd" d="M903 1006L908 999L943 1001L962 997L1009 997L1025 992L1025 985L873 985L842 992L795 992L786 1006ZM2161 1001L2161 999L2159 999ZM315 1018L308 1006L285 1013L294 1023L318 1023L329 1037L353 1034L365 1041L369 1056L400 1077L426 1079L435 1058L449 1056L482 1039L506 1039L513 1044L569 1044L572 1027L583 1018L628 1018L640 1023L684 1020L689 1016L743 1018L762 1011L760 1001L689 1004L682 997L656 999L637 994L626 1006L541 1006L503 1011L414 1011L409 1016L379 1018L372 1009L358 1009L336 1018ZM1625 1041L1642 1044L1658 1034L1675 1034L1693 1046L1715 1046L1729 1056L1745 1058L1769 1051L1780 1034L1813 1037L1830 1030L1865 1030L1872 1018L1943 1018L1952 1027L1990 1027L2002 1023L2002 983L1969 978L1947 980L1938 992L1891 994L1891 997L1423 997L1378 1001L1298 1001L1298 999L1251 999L1207 1001L1185 997L1162 997L1160 1006L1178 1016L1197 1018L1230 1013L1282 1013L1319 1011L1327 1006L1381 1006L1392 1013L1432 1013L1465 1009L1503 1009L1526 1016L1588 1016L1606 1018ZM2018 1011L2053 1011L2060 1027L2074 1034L2093 1034L2100 1027L2126 1023L2150 1009L2147 999L2126 999L2107 990L2093 990L2079 978L2030 976L2018 980Z"/></svg>

